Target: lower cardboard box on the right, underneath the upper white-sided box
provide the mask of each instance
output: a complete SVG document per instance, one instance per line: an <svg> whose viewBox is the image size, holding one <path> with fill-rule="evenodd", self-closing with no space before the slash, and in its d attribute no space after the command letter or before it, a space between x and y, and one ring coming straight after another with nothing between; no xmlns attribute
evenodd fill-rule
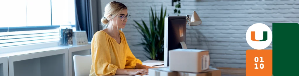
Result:
<svg viewBox="0 0 299 76"><path fill-rule="evenodd" d="M221 70L216 68L209 68L200 73L178 72L177 76L221 76Z"/></svg>

